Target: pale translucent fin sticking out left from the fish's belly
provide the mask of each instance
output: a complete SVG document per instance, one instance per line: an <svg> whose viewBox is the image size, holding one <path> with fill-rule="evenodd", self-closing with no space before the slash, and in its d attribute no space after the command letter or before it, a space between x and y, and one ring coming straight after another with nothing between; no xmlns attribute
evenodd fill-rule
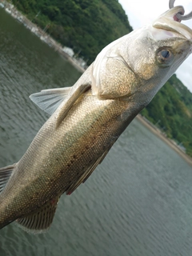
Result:
<svg viewBox="0 0 192 256"><path fill-rule="evenodd" d="M58 106L66 99L70 90L71 87L42 90L39 93L31 94L30 99L40 109L46 111L46 113L53 114Z"/></svg>

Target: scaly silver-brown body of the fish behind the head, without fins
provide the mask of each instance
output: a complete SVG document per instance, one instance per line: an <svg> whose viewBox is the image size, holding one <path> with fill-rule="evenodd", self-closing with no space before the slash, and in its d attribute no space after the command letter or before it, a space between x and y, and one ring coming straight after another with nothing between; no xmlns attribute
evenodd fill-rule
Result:
<svg viewBox="0 0 192 256"><path fill-rule="evenodd" d="M57 198L65 191L70 194L74 190L70 186L78 182L97 160L100 162L102 154L110 150L138 113L133 115L132 111L127 111L131 110L131 102L98 100L89 94L88 90L75 102L65 122L57 129L56 112L38 132L2 190L1 196L5 194L6 201L1 202L1 210L4 208L1 218L6 220L8 217L9 220L24 216L50 198ZM132 105L135 107L134 99ZM86 176L82 181L84 179Z"/></svg>

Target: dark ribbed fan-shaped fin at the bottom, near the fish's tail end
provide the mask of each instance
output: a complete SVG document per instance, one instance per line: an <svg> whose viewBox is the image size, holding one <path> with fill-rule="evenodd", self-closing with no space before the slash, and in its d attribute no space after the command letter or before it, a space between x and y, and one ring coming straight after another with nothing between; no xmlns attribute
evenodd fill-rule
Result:
<svg viewBox="0 0 192 256"><path fill-rule="evenodd" d="M44 232L53 222L54 213L58 205L58 199L59 196L51 199L38 210L35 210L34 213L29 214L24 218L18 218L16 222L18 222L18 224L28 232L35 234Z"/></svg>

